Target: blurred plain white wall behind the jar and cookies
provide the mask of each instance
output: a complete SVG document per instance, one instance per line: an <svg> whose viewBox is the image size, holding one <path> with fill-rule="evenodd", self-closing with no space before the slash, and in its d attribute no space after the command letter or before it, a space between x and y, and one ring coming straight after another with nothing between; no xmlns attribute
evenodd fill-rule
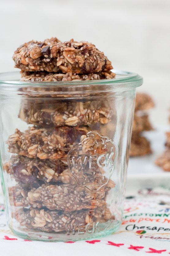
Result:
<svg viewBox="0 0 170 256"><path fill-rule="evenodd" d="M170 106L169 0L2 0L0 72L13 68L14 50L52 36L93 42L115 69L139 73L138 91L153 96L153 124L168 122Z"/></svg>

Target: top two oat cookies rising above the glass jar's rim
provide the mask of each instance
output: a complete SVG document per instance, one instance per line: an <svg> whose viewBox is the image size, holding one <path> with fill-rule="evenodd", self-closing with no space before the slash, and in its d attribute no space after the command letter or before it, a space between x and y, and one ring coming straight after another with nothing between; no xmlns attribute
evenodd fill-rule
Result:
<svg viewBox="0 0 170 256"><path fill-rule="evenodd" d="M30 41L14 53L21 81L75 81L114 78L111 62L89 42ZM28 73L27 73L28 72Z"/></svg>

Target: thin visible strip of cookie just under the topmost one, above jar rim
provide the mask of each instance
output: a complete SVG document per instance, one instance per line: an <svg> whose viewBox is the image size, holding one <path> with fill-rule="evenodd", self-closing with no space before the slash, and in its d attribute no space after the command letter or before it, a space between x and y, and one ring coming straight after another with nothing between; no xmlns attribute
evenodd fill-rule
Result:
<svg viewBox="0 0 170 256"><path fill-rule="evenodd" d="M72 74L71 72L63 73L47 73L47 72L27 72L21 71L21 80L23 82L68 82L68 81L89 81L115 78L115 73L111 71L90 73L90 74Z"/></svg>

